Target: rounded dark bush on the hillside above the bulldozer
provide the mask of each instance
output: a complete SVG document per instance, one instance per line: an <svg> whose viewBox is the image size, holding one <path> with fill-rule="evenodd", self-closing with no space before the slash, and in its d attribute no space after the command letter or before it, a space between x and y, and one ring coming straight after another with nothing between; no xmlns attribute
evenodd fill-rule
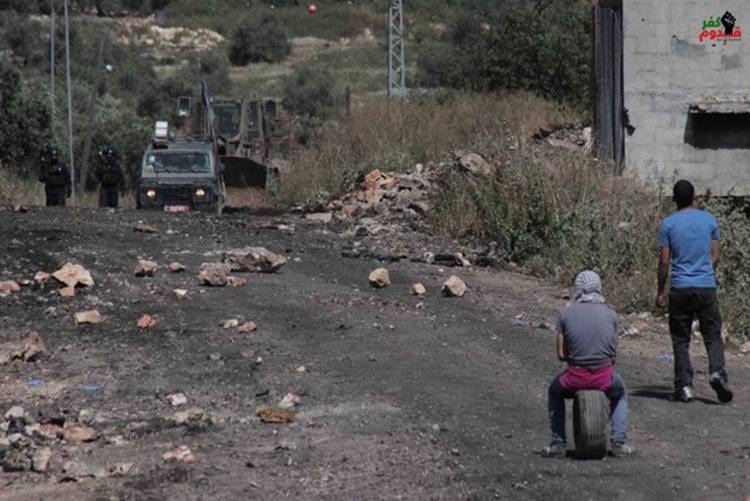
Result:
<svg viewBox="0 0 750 501"><path fill-rule="evenodd" d="M232 34L229 60L235 66L275 63L286 59L291 51L289 35L275 16L249 16Z"/></svg>

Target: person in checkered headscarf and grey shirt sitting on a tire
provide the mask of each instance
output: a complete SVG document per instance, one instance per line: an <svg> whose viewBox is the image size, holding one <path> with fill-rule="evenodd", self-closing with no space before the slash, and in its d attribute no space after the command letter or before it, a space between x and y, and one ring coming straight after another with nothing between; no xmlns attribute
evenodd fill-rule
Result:
<svg viewBox="0 0 750 501"><path fill-rule="evenodd" d="M552 431L546 456L566 454L565 399L579 390L600 390L610 402L612 435L610 454L627 456L628 393L614 367L617 355L617 314L604 304L602 283L593 271L575 280L574 303L560 310L557 323L557 356L567 369L549 386L548 411Z"/></svg>

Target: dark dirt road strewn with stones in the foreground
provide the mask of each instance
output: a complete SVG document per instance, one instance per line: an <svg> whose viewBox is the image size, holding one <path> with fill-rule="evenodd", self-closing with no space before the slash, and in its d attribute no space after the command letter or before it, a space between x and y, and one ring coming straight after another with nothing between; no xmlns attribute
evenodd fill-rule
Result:
<svg viewBox="0 0 750 501"><path fill-rule="evenodd" d="M158 232L134 232L139 221ZM702 398L677 404L667 398L671 363L659 358L670 352L663 327L641 329L622 339L619 361L638 454L542 458L546 385L561 366L540 323L552 323L564 304L559 288L501 271L401 261L387 265L393 285L374 290L367 275L381 263L342 258L343 229L295 216L0 209L0 280L31 279L70 261L96 281L69 299L50 282L0 298L0 342L37 332L49 349L37 362L0 365L0 411L21 405L35 420L87 424L99 435L47 442L49 470L0 473L0 499L750 495L746 359L728 357L732 405L716 404L705 372L697 375ZM289 263L275 274L243 275L245 287L198 285L201 263L245 246L267 247ZM138 258L188 270L137 278ZM465 297L440 296L451 273L466 281ZM409 294L415 282L427 286L423 300ZM178 288L186 298L176 298ZM94 308L103 323L75 324L75 312ZM143 314L157 319L145 331L136 327ZM258 329L225 329L228 319ZM705 371L699 348L696 368ZM176 392L186 406L170 406L166 396ZM301 399L293 423L255 415L289 392ZM174 413L191 407L204 417L176 424ZM162 460L180 445L193 463ZM86 470L100 478L80 478Z"/></svg>

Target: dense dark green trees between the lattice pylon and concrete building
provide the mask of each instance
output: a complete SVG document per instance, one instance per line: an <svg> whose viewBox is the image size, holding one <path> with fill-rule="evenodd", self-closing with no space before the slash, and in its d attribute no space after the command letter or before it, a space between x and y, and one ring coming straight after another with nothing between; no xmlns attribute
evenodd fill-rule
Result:
<svg viewBox="0 0 750 501"><path fill-rule="evenodd" d="M590 106L590 2L557 1L546 9L482 3L460 11L441 42L419 51L423 85L524 89Z"/></svg>

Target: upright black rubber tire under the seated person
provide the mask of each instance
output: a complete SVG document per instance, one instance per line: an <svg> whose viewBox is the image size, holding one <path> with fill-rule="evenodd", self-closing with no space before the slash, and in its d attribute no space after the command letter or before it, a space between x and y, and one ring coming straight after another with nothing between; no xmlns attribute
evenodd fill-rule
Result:
<svg viewBox="0 0 750 501"><path fill-rule="evenodd" d="M609 400L603 392L585 390L573 400L576 458L603 459L607 455Z"/></svg>

